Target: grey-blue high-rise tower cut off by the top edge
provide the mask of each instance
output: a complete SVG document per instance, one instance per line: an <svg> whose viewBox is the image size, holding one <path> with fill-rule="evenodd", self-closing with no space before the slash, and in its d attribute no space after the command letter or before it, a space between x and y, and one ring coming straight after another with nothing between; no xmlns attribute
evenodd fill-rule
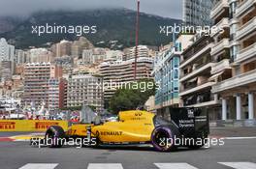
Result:
<svg viewBox="0 0 256 169"><path fill-rule="evenodd" d="M215 0L183 0L183 22L191 26L210 26L209 17Z"/></svg>

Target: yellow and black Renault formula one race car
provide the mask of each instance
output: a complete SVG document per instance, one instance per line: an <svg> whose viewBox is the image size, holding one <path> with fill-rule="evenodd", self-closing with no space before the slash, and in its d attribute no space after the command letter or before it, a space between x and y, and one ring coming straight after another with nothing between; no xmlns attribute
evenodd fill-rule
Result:
<svg viewBox="0 0 256 169"><path fill-rule="evenodd" d="M200 148L206 144L204 139L208 137L209 127L205 109L174 108L170 117L168 121L146 111L123 111L115 122L73 125L66 132L58 126L48 127L46 138L86 138L95 147L149 143L162 152L181 146ZM62 144L54 141L50 147Z"/></svg>

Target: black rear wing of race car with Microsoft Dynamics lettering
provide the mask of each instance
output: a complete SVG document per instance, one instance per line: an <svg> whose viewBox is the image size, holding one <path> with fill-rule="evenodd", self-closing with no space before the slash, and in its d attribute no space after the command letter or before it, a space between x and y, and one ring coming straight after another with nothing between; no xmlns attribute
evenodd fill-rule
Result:
<svg viewBox="0 0 256 169"><path fill-rule="evenodd" d="M171 108L171 120L184 137L207 137L209 134L207 108Z"/></svg>

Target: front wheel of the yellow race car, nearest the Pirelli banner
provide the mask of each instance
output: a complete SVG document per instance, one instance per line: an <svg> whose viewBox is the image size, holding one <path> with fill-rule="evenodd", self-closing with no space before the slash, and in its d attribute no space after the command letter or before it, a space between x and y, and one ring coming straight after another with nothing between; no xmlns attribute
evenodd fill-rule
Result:
<svg viewBox="0 0 256 169"><path fill-rule="evenodd" d="M65 132L62 127L51 126L45 135L47 145L50 148L61 148L65 139Z"/></svg>

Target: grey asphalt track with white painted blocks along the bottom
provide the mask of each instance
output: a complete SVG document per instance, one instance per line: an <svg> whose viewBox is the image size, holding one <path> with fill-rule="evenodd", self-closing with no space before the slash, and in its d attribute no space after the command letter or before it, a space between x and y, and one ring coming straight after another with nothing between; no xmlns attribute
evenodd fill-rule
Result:
<svg viewBox="0 0 256 169"><path fill-rule="evenodd" d="M221 133L223 134L223 130ZM24 141L0 141L0 168L256 169L256 137L252 134L253 132L251 135L238 134L240 137L227 135L224 146L200 150L182 148L172 153L155 152L149 146L39 149ZM14 133L0 133L0 137L7 135L14 136Z"/></svg>

